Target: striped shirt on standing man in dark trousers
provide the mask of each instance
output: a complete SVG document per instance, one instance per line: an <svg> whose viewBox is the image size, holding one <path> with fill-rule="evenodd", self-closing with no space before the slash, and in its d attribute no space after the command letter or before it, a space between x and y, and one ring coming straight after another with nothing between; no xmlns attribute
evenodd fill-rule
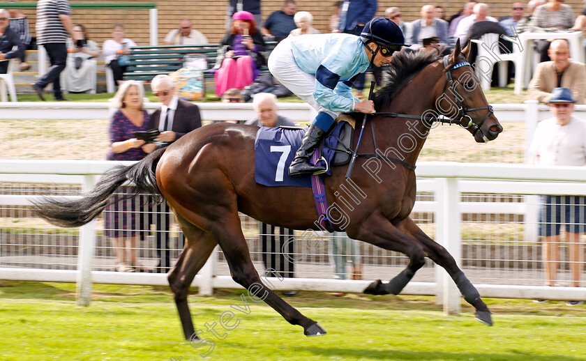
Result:
<svg viewBox="0 0 586 361"><path fill-rule="evenodd" d="M69 36L59 15L71 15L67 0L39 0L37 3L37 43L65 43Z"/></svg>

